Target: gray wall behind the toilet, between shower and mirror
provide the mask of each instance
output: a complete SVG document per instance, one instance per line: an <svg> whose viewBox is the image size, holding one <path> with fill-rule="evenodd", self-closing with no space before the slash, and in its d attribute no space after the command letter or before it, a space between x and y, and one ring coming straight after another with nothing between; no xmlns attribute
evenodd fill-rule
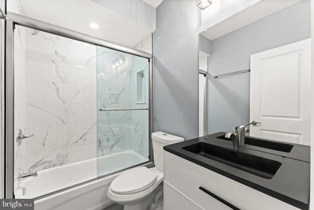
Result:
<svg viewBox="0 0 314 210"><path fill-rule="evenodd" d="M194 0L164 0L154 32L154 131L198 136L198 23Z"/></svg>

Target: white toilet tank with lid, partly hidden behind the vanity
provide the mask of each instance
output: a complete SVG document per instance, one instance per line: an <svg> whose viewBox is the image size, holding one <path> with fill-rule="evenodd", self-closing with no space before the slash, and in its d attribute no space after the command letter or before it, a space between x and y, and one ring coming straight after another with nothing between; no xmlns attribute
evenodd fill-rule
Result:
<svg viewBox="0 0 314 210"><path fill-rule="evenodd" d="M157 169L163 172L163 147L183 141L182 137L161 131L152 133L154 164Z"/></svg>

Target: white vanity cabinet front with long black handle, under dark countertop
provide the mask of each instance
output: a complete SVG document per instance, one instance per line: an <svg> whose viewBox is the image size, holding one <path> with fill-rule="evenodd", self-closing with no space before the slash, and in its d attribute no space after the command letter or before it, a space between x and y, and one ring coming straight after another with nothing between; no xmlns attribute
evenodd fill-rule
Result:
<svg viewBox="0 0 314 210"><path fill-rule="evenodd" d="M298 210L164 151L164 210Z"/></svg>

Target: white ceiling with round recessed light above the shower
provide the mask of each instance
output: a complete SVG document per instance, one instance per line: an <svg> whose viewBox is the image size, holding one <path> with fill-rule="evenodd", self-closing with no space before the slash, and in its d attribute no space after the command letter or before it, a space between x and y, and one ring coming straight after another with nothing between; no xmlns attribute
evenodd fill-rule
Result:
<svg viewBox="0 0 314 210"><path fill-rule="evenodd" d="M18 0L27 17L41 20L70 30L127 47L134 47L152 31L123 15L113 12L90 0ZM146 1L146 0L145 0ZM160 0L150 0L157 3ZM154 4L154 5L155 5ZM15 8L8 11L16 12ZM90 23L99 25L91 29Z"/></svg>

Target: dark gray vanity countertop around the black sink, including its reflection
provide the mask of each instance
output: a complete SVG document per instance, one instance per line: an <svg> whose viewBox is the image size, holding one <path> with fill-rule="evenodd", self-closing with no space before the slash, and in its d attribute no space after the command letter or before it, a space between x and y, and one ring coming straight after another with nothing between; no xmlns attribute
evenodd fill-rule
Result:
<svg viewBox="0 0 314 210"><path fill-rule="evenodd" d="M290 154L288 152L278 152L276 150L260 148L246 145L240 148L239 152L244 152L267 159L281 162L282 165L272 179L250 174L248 172L236 169L232 166L220 163L207 157L183 150L183 147L193 145L199 142L205 142L219 147L233 150L231 142L216 137L224 135L223 132L211 134L205 137L191 139L173 145L164 147L164 150L178 155L186 160L196 163L211 171L219 173L232 180L238 181L251 188L259 190L278 200L284 201L292 206L302 210L309 209L310 199L310 147L303 145L294 145ZM290 143L289 143L290 144ZM261 150L260 150L261 149ZM285 153L286 157L281 156ZM299 153L299 154L298 154Z"/></svg>

